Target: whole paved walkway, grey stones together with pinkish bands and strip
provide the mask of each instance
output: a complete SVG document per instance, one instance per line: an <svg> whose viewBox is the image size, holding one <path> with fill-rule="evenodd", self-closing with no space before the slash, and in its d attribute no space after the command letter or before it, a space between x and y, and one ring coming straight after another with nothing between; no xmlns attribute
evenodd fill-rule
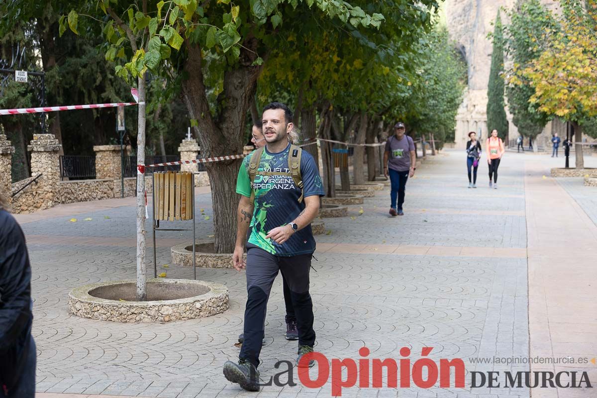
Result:
<svg viewBox="0 0 597 398"><path fill-rule="evenodd" d="M595 161L586 159L587 166ZM597 227L587 215L595 214L591 208L595 202L573 199L597 189L583 187L580 179L564 189L555 179L543 177L549 176L555 162L546 156L507 153L500 165L498 190L488 189L484 165L479 188L467 189L462 154L447 151L417 168L416 178L408 182L404 217L388 217L386 189L366 198L362 206L351 206L352 217L325 219L331 234L317 237L318 261L313 262L317 272L312 272L316 350L330 359L356 360L361 358L359 348L366 345L370 358L399 359L399 349L408 346L413 348L414 363L421 347L433 347L430 358L461 358L467 372L529 370L524 364L472 362L479 358L597 353L597 306L589 286L595 280L589 266L595 255L588 251L594 246ZM196 195L197 205L211 216L210 194L202 192ZM359 215L361 207L364 212ZM38 396L256 396L226 382L221 374L223 362L238 356L233 344L242 331L244 274L197 270L198 279L223 283L230 291L230 310L206 319L120 324L67 313L70 289L134 277L134 214L134 201L123 199L18 216L33 267ZM199 220L197 236L213 235L211 218ZM579 232L581 237L564 251L566 256L555 257ZM192 270L170 264L170 246L188 240L181 235L163 232L158 240L158 263L170 265L168 277L192 277ZM577 259L583 262L570 272L570 264ZM564 274L569 279L562 279ZM584 281L578 290L584 298L574 294L578 280ZM578 322L576 314L581 315ZM278 360L296 357L296 342L283 338L281 280L272 289L266 322L260 371L269 380L277 372ZM592 380L597 382L594 374ZM558 394L555 389L546 390ZM578 391L585 393L579 396L592 393ZM559 397L571 396L569 392L561 390ZM527 388L487 387L343 390L343 396L349 397L529 394ZM265 387L258 396L330 397L331 385L312 389L298 382L296 387Z"/></svg>

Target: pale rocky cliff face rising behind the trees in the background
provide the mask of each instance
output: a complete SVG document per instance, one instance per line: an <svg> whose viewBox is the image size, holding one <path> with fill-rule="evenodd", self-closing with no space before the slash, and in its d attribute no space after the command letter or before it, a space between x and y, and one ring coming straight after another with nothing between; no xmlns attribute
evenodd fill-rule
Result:
<svg viewBox="0 0 597 398"><path fill-rule="evenodd" d="M500 7L511 10L517 0L445 0L443 10L445 20L453 39L467 61L469 84L464 94L463 103L456 117L455 146L463 148L468 140L469 131L481 132L487 137L487 85L491 67L491 40L488 33L493 32L492 21L496 19ZM542 0L547 7L555 9L558 2ZM507 23L505 13L502 21ZM518 137L518 130L510 120L510 137Z"/></svg>

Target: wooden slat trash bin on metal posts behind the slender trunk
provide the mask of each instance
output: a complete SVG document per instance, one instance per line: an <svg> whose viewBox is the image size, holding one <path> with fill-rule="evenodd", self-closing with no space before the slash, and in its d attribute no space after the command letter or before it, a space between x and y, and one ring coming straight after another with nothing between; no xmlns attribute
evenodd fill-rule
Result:
<svg viewBox="0 0 597 398"><path fill-rule="evenodd" d="M195 269L195 177L188 171L153 173L153 276L158 276L155 232L189 231L190 229L160 228L160 221L193 221L193 277Z"/></svg>

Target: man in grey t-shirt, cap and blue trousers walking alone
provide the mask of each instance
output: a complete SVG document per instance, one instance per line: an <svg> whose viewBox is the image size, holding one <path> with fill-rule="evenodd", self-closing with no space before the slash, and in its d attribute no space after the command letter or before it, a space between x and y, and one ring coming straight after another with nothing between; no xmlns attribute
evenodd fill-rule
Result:
<svg viewBox="0 0 597 398"><path fill-rule="evenodd" d="M405 135L404 124L398 122L394 125L395 134L387 138L386 150L383 153L383 174L390 176L392 192L390 192L390 215L404 215L402 203L408 177L413 177L417 169L417 154L414 149L413 138ZM398 199L398 203L396 203Z"/></svg>

